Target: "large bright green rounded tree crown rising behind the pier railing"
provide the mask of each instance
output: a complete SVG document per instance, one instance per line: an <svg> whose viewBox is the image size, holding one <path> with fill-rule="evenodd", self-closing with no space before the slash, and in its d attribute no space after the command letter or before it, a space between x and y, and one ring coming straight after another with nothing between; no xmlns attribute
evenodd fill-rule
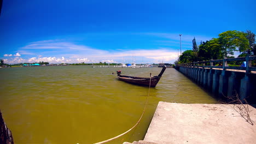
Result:
<svg viewBox="0 0 256 144"><path fill-rule="evenodd" d="M246 34L240 31L226 31L220 33L218 39L225 57L234 55L234 51L244 52L248 50L249 47L249 40L246 38Z"/></svg>

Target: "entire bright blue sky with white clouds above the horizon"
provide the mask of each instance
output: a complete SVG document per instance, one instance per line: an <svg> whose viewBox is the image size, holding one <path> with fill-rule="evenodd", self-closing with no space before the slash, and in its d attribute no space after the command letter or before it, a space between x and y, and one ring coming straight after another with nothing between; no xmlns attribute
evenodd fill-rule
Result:
<svg viewBox="0 0 256 144"><path fill-rule="evenodd" d="M5 63L173 63L219 33L255 28L255 1L3 0Z"/></svg>

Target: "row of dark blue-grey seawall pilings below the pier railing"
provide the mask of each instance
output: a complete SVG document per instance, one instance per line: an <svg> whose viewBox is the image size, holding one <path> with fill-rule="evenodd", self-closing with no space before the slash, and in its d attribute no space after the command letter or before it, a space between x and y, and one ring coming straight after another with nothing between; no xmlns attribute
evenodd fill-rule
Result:
<svg viewBox="0 0 256 144"><path fill-rule="evenodd" d="M256 74L242 70L176 67L189 79L220 98L239 95L248 103L256 103Z"/></svg>

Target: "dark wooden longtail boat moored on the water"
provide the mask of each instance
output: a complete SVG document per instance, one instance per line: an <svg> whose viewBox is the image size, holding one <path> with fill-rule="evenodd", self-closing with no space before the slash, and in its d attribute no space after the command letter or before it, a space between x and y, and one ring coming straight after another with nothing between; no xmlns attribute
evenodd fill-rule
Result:
<svg viewBox="0 0 256 144"><path fill-rule="evenodd" d="M135 76L121 75L121 70L118 70L117 74L118 74L118 79L121 81L125 81L135 85L142 85L142 86L149 86L149 82L150 82L150 87L155 87L158 84L162 74L165 72L165 69L166 69L166 66L162 67L162 70L159 75L151 77L151 82L150 82L150 77L135 77ZM150 73L150 76L151 76L151 73Z"/></svg>

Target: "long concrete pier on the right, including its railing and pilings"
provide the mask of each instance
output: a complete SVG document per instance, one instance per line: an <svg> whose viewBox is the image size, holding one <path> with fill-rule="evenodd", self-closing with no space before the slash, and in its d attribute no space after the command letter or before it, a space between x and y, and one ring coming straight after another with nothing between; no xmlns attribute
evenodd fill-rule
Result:
<svg viewBox="0 0 256 144"><path fill-rule="evenodd" d="M174 68L219 98L236 97L237 94L240 100L246 99L248 103L255 104L256 93L253 88L256 87L256 67L252 67L252 61L255 60L256 56L247 55L176 64ZM228 62L237 61L246 61L246 67L228 65Z"/></svg>

